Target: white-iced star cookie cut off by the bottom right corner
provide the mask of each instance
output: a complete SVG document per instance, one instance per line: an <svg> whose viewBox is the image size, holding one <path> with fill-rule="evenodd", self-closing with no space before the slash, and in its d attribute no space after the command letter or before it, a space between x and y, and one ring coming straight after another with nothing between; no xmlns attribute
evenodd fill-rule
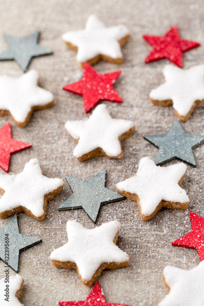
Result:
<svg viewBox="0 0 204 306"><path fill-rule="evenodd" d="M167 266L164 282L170 293L159 306L203 306L204 305L204 261L192 270Z"/></svg>

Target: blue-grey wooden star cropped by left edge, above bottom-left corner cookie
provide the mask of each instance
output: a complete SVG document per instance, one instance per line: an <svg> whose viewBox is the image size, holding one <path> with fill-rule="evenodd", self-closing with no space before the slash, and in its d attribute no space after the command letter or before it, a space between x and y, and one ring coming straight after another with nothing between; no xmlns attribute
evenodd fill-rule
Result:
<svg viewBox="0 0 204 306"><path fill-rule="evenodd" d="M38 237L19 233L17 215L14 215L0 230L0 259L18 271L19 252L42 242Z"/></svg>

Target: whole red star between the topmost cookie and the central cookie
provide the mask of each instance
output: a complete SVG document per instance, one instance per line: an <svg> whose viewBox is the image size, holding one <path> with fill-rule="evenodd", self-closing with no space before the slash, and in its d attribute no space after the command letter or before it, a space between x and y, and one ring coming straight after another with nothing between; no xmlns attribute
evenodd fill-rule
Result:
<svg viewBox="0 0 204 306"><path fill-rule="evenodd" d="M99 74L88 63L84 63L82 80L68 84L63 89L83 96L84 110L88 113L100 100L123 102L113 88L121 70Z"/></svg>

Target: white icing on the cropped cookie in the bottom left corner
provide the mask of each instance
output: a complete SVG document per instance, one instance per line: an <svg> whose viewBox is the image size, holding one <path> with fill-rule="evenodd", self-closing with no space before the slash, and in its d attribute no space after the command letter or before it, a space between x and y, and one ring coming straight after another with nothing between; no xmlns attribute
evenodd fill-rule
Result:
<svg viewBox="0 0 204 306"><path fill-rule="evenodd" d="M23 282L22 276L16 274L15 276L9 276L9 283L5 283L4 281L5 278L0 279L0 305L23 306L23 304L21 304L19 299L16 297L16 293L20 289ZM5 301L6 297L4 296L4 294L6 294L4 290L7 289L6 285L9 285L9 302Z"/></svg>

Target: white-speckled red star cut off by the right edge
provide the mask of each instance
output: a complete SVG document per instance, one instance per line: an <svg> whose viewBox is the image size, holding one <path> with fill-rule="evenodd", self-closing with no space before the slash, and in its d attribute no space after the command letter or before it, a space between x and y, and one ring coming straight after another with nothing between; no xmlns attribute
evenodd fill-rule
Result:
<svg viewBox="0 0 204 306"><path fill-rule="evenodd" d="M200 260L204 260L204 219L190 211L192 231L172 242L172 245L193 248L198 251Z"/></svg>

